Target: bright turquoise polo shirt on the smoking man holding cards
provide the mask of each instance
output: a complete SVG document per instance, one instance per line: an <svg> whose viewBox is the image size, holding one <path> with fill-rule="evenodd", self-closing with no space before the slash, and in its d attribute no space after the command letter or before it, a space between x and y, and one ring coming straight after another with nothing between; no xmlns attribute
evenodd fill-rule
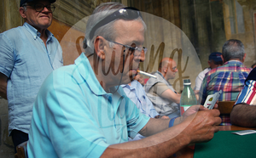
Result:
<svg viewBox="0 0 256 158"><path fill-rule="evenodd" d="M122 87L106 93L81 54L74 65L53 71L39 90L28 157L100 157L108 145L134 138L148 120Z"/></svg>

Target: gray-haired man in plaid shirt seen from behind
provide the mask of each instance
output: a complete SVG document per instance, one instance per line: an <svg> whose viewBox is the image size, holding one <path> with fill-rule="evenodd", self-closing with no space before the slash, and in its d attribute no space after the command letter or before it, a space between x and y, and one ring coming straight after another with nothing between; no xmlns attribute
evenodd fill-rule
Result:
<svg viewBox="0 0 256 158"><path fill-rule="evenodd" d="M209 71L203 80L201 104L204 104L207 95L220 90L223 93L219 96L219 101L236 100L249 72L252 70L242 64L246 54L241 41L230 39L225 42L222 48L222 55L224 65ZM230 125L230 115L221 115L220 117L222 118L221 125Z"/></svg>

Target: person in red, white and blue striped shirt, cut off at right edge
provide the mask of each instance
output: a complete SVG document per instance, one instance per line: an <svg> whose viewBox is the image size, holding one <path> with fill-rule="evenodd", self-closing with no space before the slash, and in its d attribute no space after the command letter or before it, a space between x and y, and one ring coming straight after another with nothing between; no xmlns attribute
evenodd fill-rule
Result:
<svg viewBox="0 0 256 158"><path fill-rule="evenodd" d="M239 93L230 113L232 124L241 127L256 127L256 68L247 76L244 88Z"/></svg>

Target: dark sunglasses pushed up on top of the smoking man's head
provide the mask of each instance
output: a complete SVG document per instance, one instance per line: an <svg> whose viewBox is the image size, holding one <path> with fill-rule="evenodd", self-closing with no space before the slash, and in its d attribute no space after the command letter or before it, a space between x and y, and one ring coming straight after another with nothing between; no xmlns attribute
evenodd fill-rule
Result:
<svg viewBox="0 0 256 158"><path fill-rule="evenodd" d="M103 20L100 20L90 31L90 39L93 38L95 31L101 27L102 25L107 25L113 20L124 19L124 20L136 20L138 17L143 19L141 12L137 8L126 7L120 8L119 10L113 12L113 14L109 14Z"/></svg>

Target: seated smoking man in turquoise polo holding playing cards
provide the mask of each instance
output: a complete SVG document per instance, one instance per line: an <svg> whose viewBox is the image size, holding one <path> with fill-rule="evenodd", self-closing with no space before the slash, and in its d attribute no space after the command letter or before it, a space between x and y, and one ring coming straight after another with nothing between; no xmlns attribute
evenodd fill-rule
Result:
<svg viewBox="0 0 256 158"><path fill-rule="evenodd" d="M145 59L145 29L135 8L119 3L96 8L86 25L85 53L74 65L53 71L39 90L28 157L168 157L213 137L218 110L198 105L175 121L153 119L119 87L133 80ZM147 138L127 142L137 133Z"/></svg>

